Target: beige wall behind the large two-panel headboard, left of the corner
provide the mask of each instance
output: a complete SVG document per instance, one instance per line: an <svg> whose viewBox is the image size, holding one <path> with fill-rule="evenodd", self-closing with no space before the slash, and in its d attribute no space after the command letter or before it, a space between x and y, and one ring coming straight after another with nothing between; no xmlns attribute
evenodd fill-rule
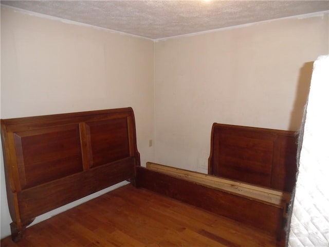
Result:
<svg viewBox="0 0 329 247"><path fill-rule="evenodd" d="M153 160L154 42L1 7L1 118L132 107ZM9 223L3 160L1 237Z"/></svg>

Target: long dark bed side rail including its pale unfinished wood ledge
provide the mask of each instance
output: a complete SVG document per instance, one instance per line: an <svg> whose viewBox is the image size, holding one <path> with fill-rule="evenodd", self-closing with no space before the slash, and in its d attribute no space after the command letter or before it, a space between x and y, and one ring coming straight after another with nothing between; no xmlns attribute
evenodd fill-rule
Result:
<svg viewBox="0 0 329 247"><path fill-rule="evenodd" d="M137 168L136 184L257 227L278 240L283 235L290 193L154 163Z"/></svg>

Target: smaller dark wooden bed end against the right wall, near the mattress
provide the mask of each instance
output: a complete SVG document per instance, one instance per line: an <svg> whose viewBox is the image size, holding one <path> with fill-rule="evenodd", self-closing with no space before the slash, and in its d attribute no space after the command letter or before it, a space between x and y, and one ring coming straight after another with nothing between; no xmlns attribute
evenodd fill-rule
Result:
<svg viewBox="0 0 329 247"><path fill-rule="evenodd" d="M291 192L296 155L293 131L214 123L208 173Z"/></svg>

